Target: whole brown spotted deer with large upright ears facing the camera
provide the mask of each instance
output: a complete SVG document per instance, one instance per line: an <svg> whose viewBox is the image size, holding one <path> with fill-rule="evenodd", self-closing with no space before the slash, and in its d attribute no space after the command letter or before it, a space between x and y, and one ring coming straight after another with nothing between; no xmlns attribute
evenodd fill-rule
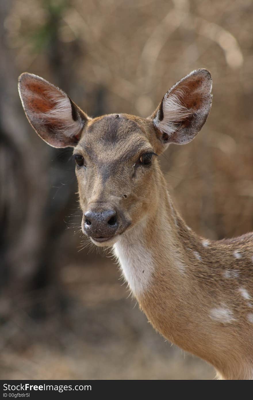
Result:
<svg viewBox="0 0 253 400"><path fill-rule="evenodd" d="M147 118L91 118L39 76L24 72L18 82L38 135L74 148L82 232L112 250L153 328L211 364L217 379L253 379L253 232L222 240L193 232L158 161L169 144L187 144L201 130L211 89L201 68L174 84Z"/></svg>

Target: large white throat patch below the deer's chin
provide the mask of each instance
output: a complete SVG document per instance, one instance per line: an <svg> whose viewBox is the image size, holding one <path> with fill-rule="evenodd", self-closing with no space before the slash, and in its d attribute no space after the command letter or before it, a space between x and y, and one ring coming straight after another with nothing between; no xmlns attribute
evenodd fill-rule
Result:
<svg viewBox="0 0 253 400"><path fill-rule="evenodd" d="M114 244L114 254L120 262L123 275L135 296L148 290L154 271L151 254L142 242L143 223Z"/></svg>

